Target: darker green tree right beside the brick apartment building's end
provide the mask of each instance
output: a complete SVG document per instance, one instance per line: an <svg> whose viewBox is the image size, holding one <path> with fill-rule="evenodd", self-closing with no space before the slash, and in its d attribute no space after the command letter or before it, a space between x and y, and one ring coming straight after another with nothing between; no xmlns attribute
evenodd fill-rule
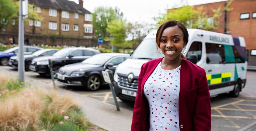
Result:
<svg viewBox="0 0 256 131"><path fill-rule="evenodd" d="M96 38L109 37L110 34L106 31L108 23L113 20L122 19L123 13L120 13L119 9L115 7L97 7L93 13L93 28L95 30Z"/></svg>

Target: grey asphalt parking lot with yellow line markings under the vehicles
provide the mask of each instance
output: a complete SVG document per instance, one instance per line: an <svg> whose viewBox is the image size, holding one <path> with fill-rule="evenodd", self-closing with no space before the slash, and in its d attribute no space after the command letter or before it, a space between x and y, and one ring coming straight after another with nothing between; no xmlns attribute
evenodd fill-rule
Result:
<svg viewBox="0 0 256 131"><path fill-rule="evenodd" d="M8 66L0 66L0 72L17 76L16 70ZM45 83L52 83L49 76L40 76L32 71L26 72L26 77L40 80ZM253 79L256 78L256 71L247 71L247 82L239 97L231 98L227 94L221 94L211 99L212 110L212 131L236 131L256 120L256 90ZM85 95L101 102L114 105L113 96L108 85L98 91L86 91L83 87L64 86L56 82L58 88L72 90L73 92ZM133 103L122 102L118 99L121 108L133 110Z"/></svg>

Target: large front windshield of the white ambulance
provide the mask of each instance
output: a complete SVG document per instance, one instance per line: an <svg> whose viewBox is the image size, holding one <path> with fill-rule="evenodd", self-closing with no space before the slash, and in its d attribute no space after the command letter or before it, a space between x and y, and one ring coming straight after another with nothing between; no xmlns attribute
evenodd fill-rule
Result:
<svg viewBox="0 0 256 131"><path fill-rule="evenodd" d="M157 51L155 39L144 39L131 56L132 59L157 59L160 57L164 57L164 55Z"/></svg>

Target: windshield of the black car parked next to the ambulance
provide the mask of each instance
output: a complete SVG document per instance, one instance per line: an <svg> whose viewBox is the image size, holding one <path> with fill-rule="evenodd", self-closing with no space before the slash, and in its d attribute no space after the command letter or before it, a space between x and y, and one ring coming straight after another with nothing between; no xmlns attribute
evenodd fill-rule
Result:
<svg viewBox="0 0 256 131"><path fill-rule="evenodd" d="M106 63L112 56L108 56L106 54L97 54L91 56L90 58L84 60L82 64L96 64L96 65L103 65Z"/></svg>

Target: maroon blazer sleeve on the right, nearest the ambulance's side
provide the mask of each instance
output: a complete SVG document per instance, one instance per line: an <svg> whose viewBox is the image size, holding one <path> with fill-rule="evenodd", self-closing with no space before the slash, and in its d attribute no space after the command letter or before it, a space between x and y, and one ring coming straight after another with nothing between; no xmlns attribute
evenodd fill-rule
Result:
<svg viewBox="0 0 256 131"><path fill-rule="evenodd" d="M211 131L211 100L205 70L202 68L197 82L193 131Z"/></svg>

